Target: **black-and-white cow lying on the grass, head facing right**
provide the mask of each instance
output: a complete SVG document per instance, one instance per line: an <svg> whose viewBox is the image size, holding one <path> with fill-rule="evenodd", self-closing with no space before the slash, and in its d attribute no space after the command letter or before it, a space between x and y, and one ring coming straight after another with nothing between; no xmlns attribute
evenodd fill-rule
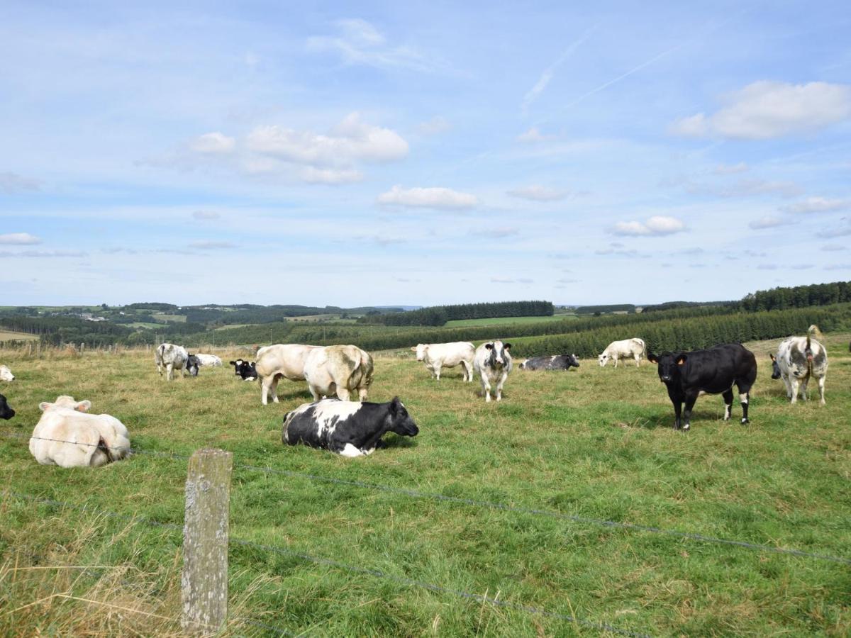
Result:
<svg viewBox="0 0 851 638"><path fill-rule="evenodd" d="M381 447L381 436L387 432L399 436L417 436L420 432L398 396L388 403L337 399L305 403L283 418L281 438L289 445L304 443L356 457Z"/></svg>

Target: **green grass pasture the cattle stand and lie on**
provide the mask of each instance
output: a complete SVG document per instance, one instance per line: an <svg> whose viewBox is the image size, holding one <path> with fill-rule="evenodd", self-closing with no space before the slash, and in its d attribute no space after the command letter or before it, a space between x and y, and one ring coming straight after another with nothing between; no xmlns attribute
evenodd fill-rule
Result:
<svg viewBox="0 0 851 638"><path fill-rule="evenodd" d="M0 432L28 436L38 402L71 394L121 419L143 451L231 450L231 538L335 563L231 540L225 635L277 635L244 617L311 636L609 633L453 590L648 635L844 636L847 563L590 520L851 558L848 334L827 342L825 407L787 402L769 378L777 342L765 342L752 345L752 423L739 424L738 405L724 423L720 396L704 396L688 433L671 429L651 365L516 370L503 401L485 403L458 368L436 383L413 357L377 358L370 398L401 396L420 436L389 435L386 449L344 459L282 445L284 413L309 400L304 384L283 381L281 402L261 406L258 385L229 368L169 384L134 352L7 356L17 379L0 391L18 415ZM37 465L26 438L0 436L0 471L14 493L182 523L185 459L139 454L61 470ZM9 495L0 511L0 635L180 633L180 530Z"/></svg>

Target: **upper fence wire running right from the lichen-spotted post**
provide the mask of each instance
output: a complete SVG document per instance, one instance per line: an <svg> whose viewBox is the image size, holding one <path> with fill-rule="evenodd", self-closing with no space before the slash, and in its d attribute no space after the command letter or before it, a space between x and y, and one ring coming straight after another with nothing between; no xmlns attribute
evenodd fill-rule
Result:
<svg viewBox="0 0 851 638"><path fill-rule="evenodd" d="M804 550L795 550L791 548L785 547L774 547L773 545L764 545L757 543L748 543L747 541L742 540L732 540L730 538L717 538L713 536L707 536L701 533L693 533L693 532L681 532L675 529L662 529L660 527L652 527L649 525L638 525L636 523L624 523L620 521L607 521L602 518L592 518L590 516L575 516L572 514L563 514L562 512L555 512L551 510L536 510L534 508L528 507L517 507L515 505L509 505L505 503L498 503L495 501L485 501L485 500L477 500L473 498L461 498L457 496L446 496L445 494L435 494L428 492L418 492L417 490L408 489L405 487L391 487L388 485L380 485L377 483L367 483L363 481L351 481L348 479L337 479L331 478L328 476L317 476L313 474L304 474L301 472L293 472L289 470L276 470L275 468L270 467L257 467L254 465L245 465L245 464L236 464L235 467L242 468L243 470L255 470L266 472L268 474L281 474L283 476L295 476L299 478L308 479L310 481L324 481L328 483L337 483L340 485L348 485L352 487L364 487L367 489L379 490L380 492L388 492L388 493L397 493L403 494L405 496L410 496L413 498L433 498L438 501L446 501L448 503L460 503L465 505L473 505L475 507L487 507L492 510L504 510L510 512L517 512L519 514L533 514L535 516L548 516L550 518L557 518L564 521L573 521L578 523L587 523L592 525L600 525L603 527L612 527L615 529L625 529L630 530L632 532L647 532L647 533L657 533L664 534L666 536L672 536L677 538L688 538L689 540L697 540L704 543L716 543L716 544L727 544L734 545L735 547L742 547L747 550L756 550L756 551L768 551L773 552L775 554L785 554L785 555L793 555L793 556L802 556L806 558L817 558L822 561L832 561L842 563L844 565L851 565L851 558L844 558L842 556L833 556L833 555L825 555L825 554L816 554L814 552L804 551Z"/></svg>

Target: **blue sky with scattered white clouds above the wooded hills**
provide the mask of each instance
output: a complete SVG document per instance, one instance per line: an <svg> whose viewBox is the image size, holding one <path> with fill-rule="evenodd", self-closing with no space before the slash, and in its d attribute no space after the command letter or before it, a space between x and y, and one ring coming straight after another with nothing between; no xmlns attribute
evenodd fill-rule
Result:
<svg viewBox="0 0 851 638"><path fill-rule="evenodd" d="M848 2L395 5L6 0L0 304L851 279Z"/></svg>

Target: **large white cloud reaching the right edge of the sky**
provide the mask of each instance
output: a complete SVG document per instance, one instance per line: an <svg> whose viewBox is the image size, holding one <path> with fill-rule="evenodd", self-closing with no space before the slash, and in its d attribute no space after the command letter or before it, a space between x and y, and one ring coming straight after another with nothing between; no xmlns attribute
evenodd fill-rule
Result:
<svg viewBox="0 0 851 638"><path fill-rule="evenodd" d="M673 122L671 133L770 140L815 131L851 117L851 87L846 84L761 80L723 96L722 102L725 106L709 117L697 113Z"/></svg>

